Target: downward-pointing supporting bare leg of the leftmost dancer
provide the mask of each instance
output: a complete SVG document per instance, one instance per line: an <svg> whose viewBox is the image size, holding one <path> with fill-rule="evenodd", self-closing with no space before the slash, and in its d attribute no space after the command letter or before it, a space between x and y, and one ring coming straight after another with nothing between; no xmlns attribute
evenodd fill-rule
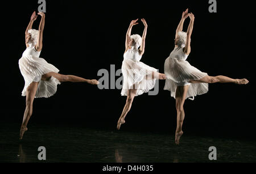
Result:
<svg viewBox="0 0 256 174"><path fill-rule="evenodd" d="M23 116L22 126L19 132L19 139L22 139L23 134L27 131L27 123L32 116L33 110L33 101L35 98L36 90L38 89L39 82L32 82L30 86L27 87L27 96L26 96L26 109Z"/></svg>

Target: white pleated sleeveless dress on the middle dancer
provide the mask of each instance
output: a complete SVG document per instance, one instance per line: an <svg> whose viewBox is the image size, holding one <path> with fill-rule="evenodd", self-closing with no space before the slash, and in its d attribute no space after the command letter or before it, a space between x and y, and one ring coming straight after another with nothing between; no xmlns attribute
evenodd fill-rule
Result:
<svg viewBox="0 0 256 174"><path fill-rule="evenodd" d="M154 67L150 67L143 62L140 62L141 55L139 50L131 47L123 54L122 74L123 74L123 87L121 91L122 96L127 96L130 89L137 89L137 94L142 95L150 91L155 86L156 79L146 79L146 75L150 75L153 71L157 72ZM151 77L151 76L150 76Z"/></svg>

